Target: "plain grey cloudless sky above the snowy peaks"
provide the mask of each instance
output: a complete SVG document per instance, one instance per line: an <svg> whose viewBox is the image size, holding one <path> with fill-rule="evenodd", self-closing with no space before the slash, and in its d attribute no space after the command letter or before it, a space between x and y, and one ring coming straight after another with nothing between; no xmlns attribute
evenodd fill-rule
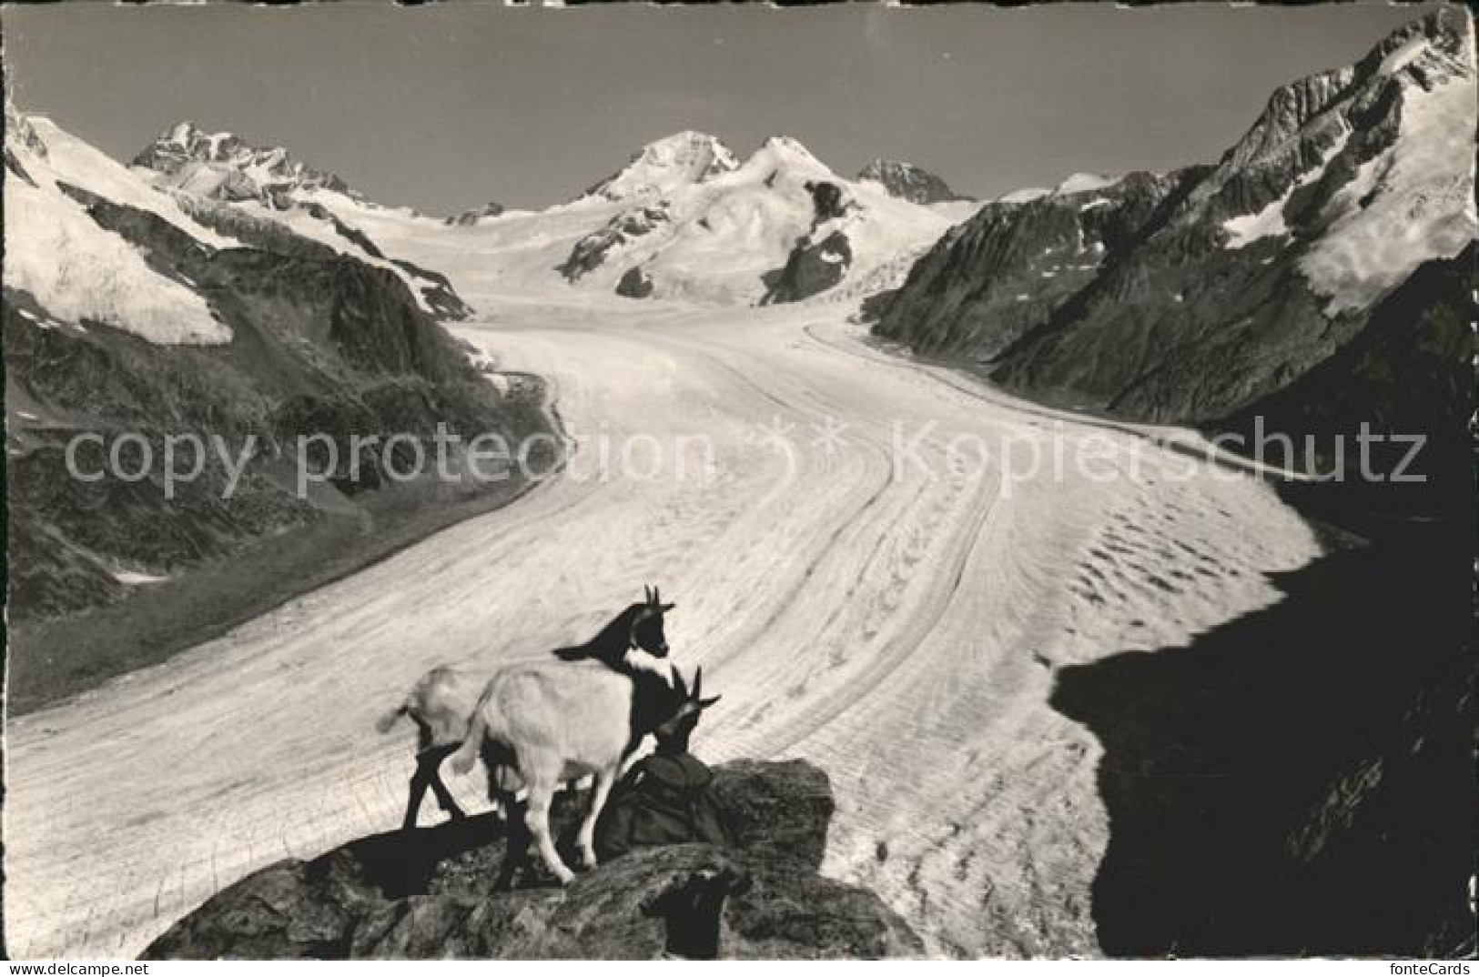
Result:
<svg viewBox="0 0 1479 977"><path fill-rule="evenodd" d="M0 9L16 105L120 160L175 121L287 146L444 214L568 200L643 143L796 136L995 197L1214 161L1273 86L1427 7L577 9L445 3Z"/></svg>

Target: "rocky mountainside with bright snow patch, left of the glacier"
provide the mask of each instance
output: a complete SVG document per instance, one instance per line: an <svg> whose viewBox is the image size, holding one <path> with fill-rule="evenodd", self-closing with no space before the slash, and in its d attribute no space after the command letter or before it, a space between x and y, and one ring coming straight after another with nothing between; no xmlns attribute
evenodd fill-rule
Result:
<svg viewBox="0 0 1479 977"><path fill-rule="evenodd" d="M447 287L435 272L371 263L358 253L371 242L331 245L277 211L161 191L50 121L12 105L6 118L12 708L127 668L135 650L163 653L191 615L106 621L191 593L206 568L271 563L309 538L318 551L303 553L325 566L361 534L393 538L419 504L450 513L491 498L470 482L390 485L383 457L351 466L351 435L546 429L541 387L500 392L408 288ZM70 476L78 435L101 445L78 455L96 479ZM303 495L294 446L317 435L334 440L337 466ZM105 467L123 436L127 464ZM235 479L211 451L167 488L160 460L185 436L244 452ZM280 565L274 581L308 568ZM93 631L106 640L93 646Z"/></svg>

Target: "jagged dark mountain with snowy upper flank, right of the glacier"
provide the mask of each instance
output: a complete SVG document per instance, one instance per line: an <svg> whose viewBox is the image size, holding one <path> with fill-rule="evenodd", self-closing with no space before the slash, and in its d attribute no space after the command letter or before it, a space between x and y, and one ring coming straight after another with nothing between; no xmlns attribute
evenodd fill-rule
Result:
<svg viewBox="0 0 1479 977"><path fill-rule="evenodd" d="M1276 395L1296 432L1316 415L1350 430L1418 414L1407 395L1427 395L1371 390L1383 381L1355 350L1344 359L1367 364L1362 398L1383 401L1378 417L1356 399L1321 402L1344 380L1299 381L1368 333L1404 328L1399 309L1427 375L1464 386L1460 344L1432 330L1467 304L1473 50L1469 15L1442 9L1355 65L1278 89L1216 166L989 204L877 303L876 331L985 362L1012 390L1134 420L1220 429ZM1414 276L1446 284L1393 306ZM1411 375L1401 343L1387 346Z"/></svg>

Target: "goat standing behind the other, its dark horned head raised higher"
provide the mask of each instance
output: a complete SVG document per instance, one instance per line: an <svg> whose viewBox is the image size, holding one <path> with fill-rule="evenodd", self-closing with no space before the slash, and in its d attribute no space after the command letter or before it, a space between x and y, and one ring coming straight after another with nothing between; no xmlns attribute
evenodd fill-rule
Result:
<svg viewBox="0 0 1479 977"><path fill-rule="evenodd" d="M663 630L663 615L673 609L664 605L657 588L645 587L645 600L629 605L621 613L611 619L596 636L584 644L556 649L553 653L562 661L593 659L603 662L608 668L630 674L636 668L646 667L639 662L637 652L645 656L663 659L667 656L667 636ZM643 658L645 658L643 656ZM414 828L422 801L427 788L436 797L436 803L453 819L463 817L463 810L453 800L451 791L442 782L441 764L467 738L467 724L472 717L478 696L487 681L466 671L436 667L416 680L401 705L390 709L376 721L376 729L382 733L402 717L411 717L417 729L416 742L416 772L411 775L410 797L405 806L402 828ZM637 738L640 742L640 736ZM632 748L636 749L637 743ZM490 770L490 798L501 791L500 782L493 780Z"/></svg>

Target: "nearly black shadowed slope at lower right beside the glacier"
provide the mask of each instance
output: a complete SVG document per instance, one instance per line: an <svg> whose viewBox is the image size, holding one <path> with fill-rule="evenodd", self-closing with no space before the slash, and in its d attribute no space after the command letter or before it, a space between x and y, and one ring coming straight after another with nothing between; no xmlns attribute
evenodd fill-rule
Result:
<svg viewBox="0 0 1479 977"><path fill-rule="evenodd" d="M1268 607L1056 677L1105 748L1106 953L1473 956L1473 520L1353 528Z"/></svg>

